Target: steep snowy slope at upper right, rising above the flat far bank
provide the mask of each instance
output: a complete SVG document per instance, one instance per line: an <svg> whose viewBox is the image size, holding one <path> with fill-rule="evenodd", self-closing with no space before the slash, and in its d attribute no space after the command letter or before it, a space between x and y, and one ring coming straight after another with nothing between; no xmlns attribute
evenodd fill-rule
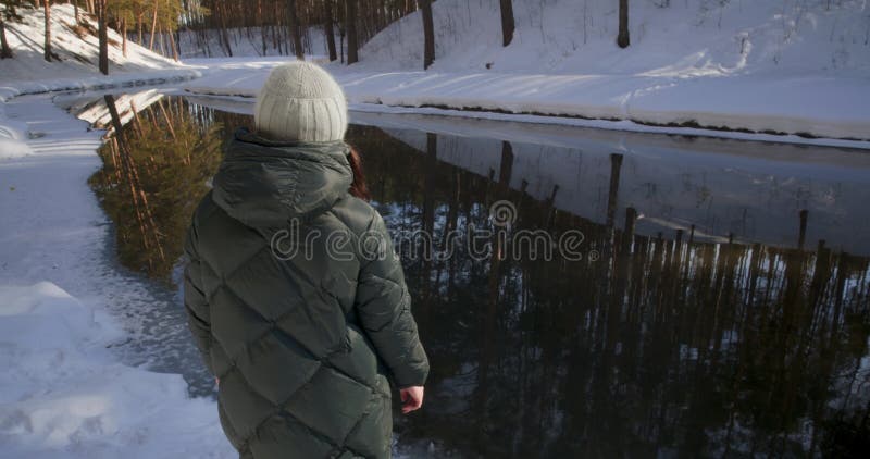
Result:
<svg viewBox="0 0 870 459"><path fill-rule="evenodd" d="M513 0L517 32L501 46L498 0L433 3L435 72L647 76L870 76L866 0L632 0L631 46L616 45L614 0ZM668 7L661 7L668 4ZM359 70L421 70L420 13L372 38Z"/></svg>

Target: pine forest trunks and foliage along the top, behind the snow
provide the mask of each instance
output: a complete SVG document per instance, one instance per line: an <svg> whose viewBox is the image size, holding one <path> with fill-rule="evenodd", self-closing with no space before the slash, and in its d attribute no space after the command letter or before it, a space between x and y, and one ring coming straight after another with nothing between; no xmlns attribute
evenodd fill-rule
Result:
<svg viewBox="0 0 870 459"><path fill-rule="evenodd" d="M151 51L172 57L181 54L182 35L188 35L201 46L208 46L209 36L216 34L221 51L233 57L231 30L245 29L252 39L252 29L258 30L262 54L276 49L278 54L304 59L311 47L306 46L306 32L322 29L326 40L330 61L340 60L353 64L359 61L362 45L395 21L422 11L424 36L423 62L427 69L435 59L435 33L432 3L434 0L2 0L0 14L0 38L2 59L13 58L7 42L4 23L20 20L20 9L45 11L45 59L57 59L51 51L51 4L72 3L79 26L87 29L90 24L82 15L92 16L100 37L100 72L108 74L107 27L117 30L124 42L136 40ZM664 0L662 8L669 4ZM499 0L502 45L513 39L515 20L512 0ZM626 48L629 35L629 0L618 0L619 33L614 37L621 48ZM117 44L115 44L117 45ZM211 53L211 52L209 52Z"/></svg>

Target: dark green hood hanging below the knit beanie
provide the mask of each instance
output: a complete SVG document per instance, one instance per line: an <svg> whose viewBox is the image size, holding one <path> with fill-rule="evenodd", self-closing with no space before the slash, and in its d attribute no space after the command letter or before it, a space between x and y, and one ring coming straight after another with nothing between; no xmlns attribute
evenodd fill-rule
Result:
<svg viewBox="0 0 870 459"><path fill-rule="evenodd" d="M236 132L214 176L212 197L248 226L283 226L330 209L353 181L344 141L275 141Z"/></svg>

